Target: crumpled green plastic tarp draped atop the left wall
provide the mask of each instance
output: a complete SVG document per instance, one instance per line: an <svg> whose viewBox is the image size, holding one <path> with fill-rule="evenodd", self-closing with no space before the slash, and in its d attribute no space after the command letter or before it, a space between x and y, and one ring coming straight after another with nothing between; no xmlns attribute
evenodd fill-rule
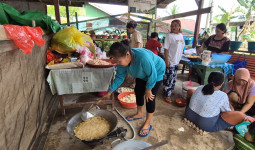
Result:
<svg viewBox="0 0 255 150"><path fill-rule="evenodd" d="M52 20L41 11L29 10L20 13L10 5L0 2L0 24L32 26L32 20L35 20L36 26L54 33L61 28L56 20Z"/></svg>

